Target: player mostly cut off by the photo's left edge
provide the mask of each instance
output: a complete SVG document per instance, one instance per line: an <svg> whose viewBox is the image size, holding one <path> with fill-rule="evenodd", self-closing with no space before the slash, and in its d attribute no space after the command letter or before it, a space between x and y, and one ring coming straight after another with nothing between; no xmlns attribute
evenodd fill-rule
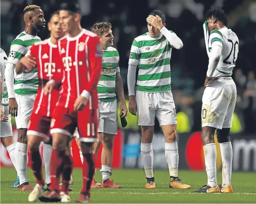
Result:
<svg viewBox="0 0 256 204"><path fill-rule="evenodd" d="M14 168L17 171L17 164L15 160L15 146L12 136L12 128L11 128L11 115L9 114L8 109L8 94L6 88L6 80L5 80L5 69L6 69L7 56L4 50L0 48L0 138L1 143L4 145L6 150L8 151L11 162L14 165ZM11 187L18 187L19 185L19 177L17 172L17 180Z"/></svg>

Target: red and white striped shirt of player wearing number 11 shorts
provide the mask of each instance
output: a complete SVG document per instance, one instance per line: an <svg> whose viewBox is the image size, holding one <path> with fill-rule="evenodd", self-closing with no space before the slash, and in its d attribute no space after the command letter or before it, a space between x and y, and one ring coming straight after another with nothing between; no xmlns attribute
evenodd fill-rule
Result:
<svg viewBox="0 0 256 204"><path fill-rule="evenodd" d="M88 105L97 109L97 83L102 71L102 50L97 34L83 29L74 38L58 41L65 77L57 105L74 109L74 102L85 90L91 94Z"/></svg>

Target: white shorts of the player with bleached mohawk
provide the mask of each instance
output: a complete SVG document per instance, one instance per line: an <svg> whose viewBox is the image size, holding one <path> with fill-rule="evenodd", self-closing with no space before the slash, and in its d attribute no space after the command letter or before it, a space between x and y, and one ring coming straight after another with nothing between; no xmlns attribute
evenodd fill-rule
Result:
<svg viewBox="0 0 256 204"><path fill-rule="evenodd" d="M34 108L35 95L19 95L15 94L15 99L18 104L18 114L15 117L16 127L28 128L30 116Z"/></svg>

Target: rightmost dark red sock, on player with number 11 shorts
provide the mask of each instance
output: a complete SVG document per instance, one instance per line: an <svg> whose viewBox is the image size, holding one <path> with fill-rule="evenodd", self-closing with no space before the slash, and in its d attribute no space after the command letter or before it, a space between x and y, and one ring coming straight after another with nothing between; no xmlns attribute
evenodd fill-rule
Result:
<svg viewBox="0 0 256 204"><path fill-rule="evenodd" d="M91 181L94 176L96 157L95 154L91 153L83 155L83 189L81 192L91 193Z"/></svg>

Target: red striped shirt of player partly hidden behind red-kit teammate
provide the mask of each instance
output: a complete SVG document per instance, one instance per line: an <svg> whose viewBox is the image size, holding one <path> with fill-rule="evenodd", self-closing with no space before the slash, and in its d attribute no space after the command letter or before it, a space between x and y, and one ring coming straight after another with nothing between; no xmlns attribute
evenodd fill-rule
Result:
<svg viewBox="0 0 256 204"><path fill-rule="evenodd" d="M63 79L63 63L57 44L52 44L51 38L37 42L32 45L28 54L36 58L39 78L33 114L51 117L59 99L59 89ZM45 95L44 86L51 79L55 81L55 87L51 94Z"/></svg>

